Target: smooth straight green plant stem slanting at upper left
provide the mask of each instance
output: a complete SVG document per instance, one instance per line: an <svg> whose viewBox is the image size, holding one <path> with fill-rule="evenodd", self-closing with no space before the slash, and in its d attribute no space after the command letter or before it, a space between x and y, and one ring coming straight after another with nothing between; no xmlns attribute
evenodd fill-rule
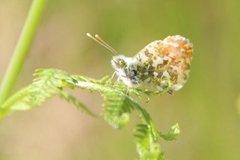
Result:
<svg viewBox="0 0 240 160"><path fill-rule="evenodd" d="M10 96L37 31L47 0L33 0L18 43L0 86L0 105Z"/></svg>

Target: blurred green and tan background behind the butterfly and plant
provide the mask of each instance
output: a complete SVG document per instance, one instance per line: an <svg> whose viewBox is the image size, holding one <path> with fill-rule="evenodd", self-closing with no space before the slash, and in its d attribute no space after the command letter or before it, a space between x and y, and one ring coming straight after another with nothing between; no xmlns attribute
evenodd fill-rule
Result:
<svg viewBox="0 0 240 160"><path fill-rule="evenodd" d="M30 0L0 1L0 77L17 42ZM179 123L177 141L161 141L171 160L240 159L240 1L49 0L15 90L36 68L59 68L100 79L111 75L111 53L85 36L100 34L119 53L135 55L147 43L180 34L194 44L191 75L172 95L143 103L157 127ZM74 91L94 111L98 94ZM114 130L53 98L0 122L2 160L133 160L134 117Z"/></svg>

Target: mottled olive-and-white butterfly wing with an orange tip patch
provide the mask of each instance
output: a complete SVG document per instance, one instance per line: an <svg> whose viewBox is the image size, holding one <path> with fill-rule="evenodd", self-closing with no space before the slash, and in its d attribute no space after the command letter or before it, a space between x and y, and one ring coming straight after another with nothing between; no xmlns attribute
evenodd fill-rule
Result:
<svg viewBox="0 0 240 160"><path fill-rule="evenodd" d="M164 90L167 86L177 91L188 79L192 44L182 36L169 36L149 43L135 58L144 68L144 86L154 90Z"/></svg>

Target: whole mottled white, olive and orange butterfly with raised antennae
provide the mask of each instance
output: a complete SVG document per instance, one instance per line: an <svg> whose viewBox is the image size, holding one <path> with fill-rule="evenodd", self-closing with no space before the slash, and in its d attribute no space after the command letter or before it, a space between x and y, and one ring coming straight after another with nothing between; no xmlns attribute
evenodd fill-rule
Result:
<svg viewBox="0 0 240 160"><path fill-rule="evenodd" d="M87 35L117 54L98 35ZM192 53L192 43L185 37L175 35L147 44L133 57L113 56L111 64L118 79L129 88L172 93L187 82Z"/></svg>

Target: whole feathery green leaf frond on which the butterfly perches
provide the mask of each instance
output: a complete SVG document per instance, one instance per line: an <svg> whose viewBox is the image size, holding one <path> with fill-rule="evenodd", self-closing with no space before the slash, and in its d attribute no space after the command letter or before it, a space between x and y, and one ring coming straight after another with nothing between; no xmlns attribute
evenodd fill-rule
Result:
<svg viewBox="0 0 240 160"><path fill-rule="evenodd" d="M159 139L174 140L179 134L178 125L173 126L167 134L157 130L150 114L130 95L155 95L139 89L129 89L123 83L113 83L108 77L95 80L80 75L70 75L58 69L37 69L32 84L18 91L0 106L0 118L7 114L34 108L47 99L58 96L74 104L84 112L93 115L88 107L71 95L65 88L80 88L98 92L104 97L103 117L114 128L125 126L130 113L138 112L142 123L136 126L135 137L140 160L163 160Z"/></svg>

